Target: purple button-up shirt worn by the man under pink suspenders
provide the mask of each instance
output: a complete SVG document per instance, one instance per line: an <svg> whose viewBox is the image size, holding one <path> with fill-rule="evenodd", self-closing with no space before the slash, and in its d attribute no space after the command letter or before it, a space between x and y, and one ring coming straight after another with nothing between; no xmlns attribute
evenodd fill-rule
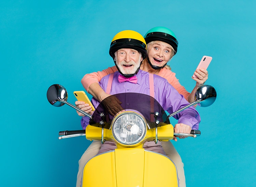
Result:
<svg viewBox="0 0 256 187"><path fill-rule="evenodd" d="M114 73L113 82L110 94L120 94L120 93L140 93L150 95L150 86L149 86L149 73L146 71L139 70L138 74L135 75L138 79L137 84L131 82L119 83L118 76L120 73L116 71ZM101 88L106 91L110 75L106 75L101 79L99 85ZM168 81L158 75L154 74L154 94L155 99L159 104L165 109L165 111L170 114L177 111L178 109L186 106L188 104L187 100L177 92ZM96 108L99 105L99 101L95 98L91 100L94 107ZM184 123L189 125L192 129L198 130L198 124L200 123L200 116L196 111L195 107L191 106L184 111L173 116L175 119L179 119L178 123ZM89 118L84 116L81 119L82 128L85 129L89 124Z"/></svg>

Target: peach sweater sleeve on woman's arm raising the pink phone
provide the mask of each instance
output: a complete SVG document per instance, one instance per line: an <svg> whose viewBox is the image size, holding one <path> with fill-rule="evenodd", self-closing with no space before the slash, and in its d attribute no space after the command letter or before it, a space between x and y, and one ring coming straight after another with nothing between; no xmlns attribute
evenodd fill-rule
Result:
<svg viewBox="0 0 256 187"><path fill-rule="evenodd" d="M189 92L182 86L179 82L179 79L175 77L175 73L171 70L162 68L158 75L162 78L165 78L178 92L183 95L186 100L188 100Z"/></svg>

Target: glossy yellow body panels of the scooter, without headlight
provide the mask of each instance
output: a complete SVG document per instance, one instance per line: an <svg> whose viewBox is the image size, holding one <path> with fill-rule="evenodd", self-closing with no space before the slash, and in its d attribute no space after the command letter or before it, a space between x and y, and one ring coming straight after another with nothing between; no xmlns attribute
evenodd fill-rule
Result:
<svg viewBox="0 0 256 187"><path fill-rule="evenodd" d="M171 124L158 128L160 139L167 136L169 139L173 137ZM111 141L111 137L111 130L104 129L104 138ZM172 160L165 155L142 148L144 142L153 140L155 129L148 130L145 137L137 146L124 147L117 143L117 149L91 158L83 170L82 187L179 186L176 166ZM100 140L101 129L88 125L86 138Z"/></svg>

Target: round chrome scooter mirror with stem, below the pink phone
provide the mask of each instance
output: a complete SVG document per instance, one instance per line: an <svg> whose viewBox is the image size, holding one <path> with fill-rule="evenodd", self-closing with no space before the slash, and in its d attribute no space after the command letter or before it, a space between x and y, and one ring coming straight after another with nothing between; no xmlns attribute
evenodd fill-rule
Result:
<svg viewBox="0 0 256 187"><path fill-rule="evenodd" d="M169 116L167 116L167 120L174 116L175 114L185 110L186 108L194 105L194 104L198 104L199 106L202 107L207 107L210 106L214 103L214 101L216 100L216 90L214 89L214 87L210 86L210 85L203 85L200 86L195 93L195 101L188 104L187 106L184 106L183 108L179 109L178 111L170 114Z"/></svg>

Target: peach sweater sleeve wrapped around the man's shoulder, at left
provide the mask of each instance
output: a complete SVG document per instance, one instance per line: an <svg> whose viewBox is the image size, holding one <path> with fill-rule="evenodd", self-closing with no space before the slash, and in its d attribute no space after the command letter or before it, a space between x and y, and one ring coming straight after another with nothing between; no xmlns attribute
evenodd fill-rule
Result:
<svg viewBox="0 0 256 187"><path fill-rule="evenodd" d="M89 73L84 75L83 79L81 80L81 83L86 91L88 91L89 86L93 83L98 83L100 80L105 77L108 74L111 74L113 72L116 72L117 68L116 66L109 67L108 69L104 69L102 71L97 71L93 73Z"/></svg>

